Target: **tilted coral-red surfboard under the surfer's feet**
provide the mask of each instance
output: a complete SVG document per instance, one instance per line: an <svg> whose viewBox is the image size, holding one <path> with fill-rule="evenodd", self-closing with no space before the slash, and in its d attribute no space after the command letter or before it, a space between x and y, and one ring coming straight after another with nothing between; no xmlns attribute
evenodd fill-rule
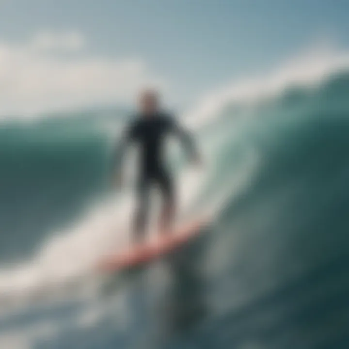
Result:
<svg viewBox="0 0 349 349"><path fill-rule="evenodd" d="M129 247L124 253L105 256L99 262L97 269L103 272L116 272L147 264L195 238L205 225L206 220L199 219L179 226L171 234L159 233L157 238L144 245Z"/></svg>

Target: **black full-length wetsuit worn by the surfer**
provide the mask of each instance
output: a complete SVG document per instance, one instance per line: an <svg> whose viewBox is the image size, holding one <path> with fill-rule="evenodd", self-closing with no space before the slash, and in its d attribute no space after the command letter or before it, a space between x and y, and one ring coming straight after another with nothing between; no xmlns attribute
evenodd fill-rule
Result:
<svg viewBox="0 0 349 349"><path fill-rule="evenodd" d="M142 239L149 210L149 191L158 186L163 197L162 229L169 228L174 216L174 184L163 159L166 136L175 134L192 157L196 156L194 144L189 134L171 116L165 113L138 115L129 125L123 141L123 149L128 143L136 143L140 148L139 178L137 185L138 208L134 218L136 240ZM121 150L124 153L123 150Z"/></svg>

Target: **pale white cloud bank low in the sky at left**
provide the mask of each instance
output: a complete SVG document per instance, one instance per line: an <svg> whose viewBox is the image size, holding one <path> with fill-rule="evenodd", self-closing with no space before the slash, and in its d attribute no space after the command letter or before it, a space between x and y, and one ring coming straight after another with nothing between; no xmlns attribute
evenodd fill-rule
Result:
<svg viewBox="0 0 349 349"><path fill-rule="evenodd" d="M0 115L127 103L143 86L163 85L142 60L86 57L85 43L78 32L0 42Z"/></svg>

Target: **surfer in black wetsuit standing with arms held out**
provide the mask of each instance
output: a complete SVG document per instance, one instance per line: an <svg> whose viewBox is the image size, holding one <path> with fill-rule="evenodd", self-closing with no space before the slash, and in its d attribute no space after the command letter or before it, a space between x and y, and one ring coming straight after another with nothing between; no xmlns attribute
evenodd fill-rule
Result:
<svg viewBox="0 0 349 349"><path fill-rule="evenodd" d="M175 134L183 143L190 159L194 163L200 163L199 153L189 133L171 115L161 111L156 91L143 91L139 96L138 108L138 115L128 125L120 148L121 161L128 144L136 143L140 148L138 205L133 219L133 234L137 244L144 239L149 214L149 192L153 185L159 188L162 196L160 232L169 232L174 220L176 211L174 180L163 159L166 137L171 133ZM122 185L122 171L118 172L118 182Z"/></svg>

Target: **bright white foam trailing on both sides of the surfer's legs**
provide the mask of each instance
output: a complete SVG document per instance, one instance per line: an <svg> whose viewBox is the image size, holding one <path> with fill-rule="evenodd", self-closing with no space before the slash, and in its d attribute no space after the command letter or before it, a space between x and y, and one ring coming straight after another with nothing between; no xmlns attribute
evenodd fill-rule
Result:
<svg viewBox="0 0 349 349"><path fill-rule="evenodd" d="M180 215L200 192L203 174L186 171L179 181ZM93 273L103 254L118 252L129 243L134 199L125 193L92 207L71 228L56 232L32 260L0 270L0 301L16 305L38 294L57 293L84 275Z"/></svg>

